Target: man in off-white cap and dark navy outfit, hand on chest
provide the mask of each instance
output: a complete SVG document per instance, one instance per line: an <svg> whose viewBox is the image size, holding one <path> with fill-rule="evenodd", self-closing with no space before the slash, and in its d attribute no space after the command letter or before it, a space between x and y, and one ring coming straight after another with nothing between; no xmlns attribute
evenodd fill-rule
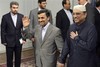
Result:
<svg viewBox="0 0 100 67"><path fill-rule="evenodd" d="M97 32L92 23L86 21L87 13L83 5L73 8L75 23L70 26L58 67L64 67L69 54L67 67L96 67Z"/></svg>

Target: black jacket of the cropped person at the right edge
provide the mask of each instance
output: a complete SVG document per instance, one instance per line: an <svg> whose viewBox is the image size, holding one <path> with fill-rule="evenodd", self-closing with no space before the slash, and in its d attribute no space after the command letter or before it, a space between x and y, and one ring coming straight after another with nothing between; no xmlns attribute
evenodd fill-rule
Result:
<svg viewBox="0 0 100 67"><path fill-rule="evenodd" d="M100 13L95 9L95 27L98 33L97 39L97 55L100 57Z"/></svg>

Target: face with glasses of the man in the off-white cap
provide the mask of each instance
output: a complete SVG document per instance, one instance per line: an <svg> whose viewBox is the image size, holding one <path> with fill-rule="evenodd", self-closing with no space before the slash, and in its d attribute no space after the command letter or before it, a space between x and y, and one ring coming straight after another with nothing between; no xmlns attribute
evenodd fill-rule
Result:
<svg viewBox="0 0 100 67"><path fill-rule="evenodd" d="M83 11L80 11L78 9L73 10L73 19L76 24L81 24L85 21L87 14Z"/></svg>

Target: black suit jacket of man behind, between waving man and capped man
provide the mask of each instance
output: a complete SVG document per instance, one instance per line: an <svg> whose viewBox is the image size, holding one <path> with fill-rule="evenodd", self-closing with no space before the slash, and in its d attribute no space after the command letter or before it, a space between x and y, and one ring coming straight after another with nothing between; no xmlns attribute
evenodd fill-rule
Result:
<svg viewBox="0 0 100 67"><path fill-rule="evenodd" d="M70 12L72 13L72 10L70 10ZM65 40L67 36L67 30L70 26L70 21L64 9L61 9L56 15L56 26L61 29L62 37Z"/></svg>

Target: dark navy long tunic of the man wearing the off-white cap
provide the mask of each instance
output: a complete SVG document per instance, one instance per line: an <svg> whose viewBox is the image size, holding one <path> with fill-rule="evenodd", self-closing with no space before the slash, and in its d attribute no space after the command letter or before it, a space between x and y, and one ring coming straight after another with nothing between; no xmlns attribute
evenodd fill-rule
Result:
<svg viewBox="0 0 100 67"><path fill-rule="evenodd" d="M72 31L78 31L78 36L74 39L70 38L70 32ZM83 22L80 25L71 25L60 62L65 63L69 54L67 67L96 67L96 39L97 32L92 23Z"/></svg>

